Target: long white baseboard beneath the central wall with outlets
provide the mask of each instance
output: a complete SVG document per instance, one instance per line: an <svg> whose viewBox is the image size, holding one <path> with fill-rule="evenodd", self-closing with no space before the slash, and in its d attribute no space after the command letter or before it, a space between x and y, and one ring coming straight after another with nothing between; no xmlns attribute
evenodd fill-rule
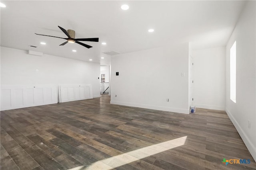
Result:
<svg viewBox="0 0 256 170"><path fill-rule="evenodd" d="M117 104L117 105L123 105L123 106L131 106L131 107L140 107L145 109L154 109L154 110L161 110L161 111L170 111L174 113L184 113L189 114L189 109L178 109L178 108L172 108L172 107L163 107L163 106L151 106L151 105L144 105L144 104L134 104L134 103L126 103L126 102L116 102L116 101L110 101L110 104Z"/></svg>

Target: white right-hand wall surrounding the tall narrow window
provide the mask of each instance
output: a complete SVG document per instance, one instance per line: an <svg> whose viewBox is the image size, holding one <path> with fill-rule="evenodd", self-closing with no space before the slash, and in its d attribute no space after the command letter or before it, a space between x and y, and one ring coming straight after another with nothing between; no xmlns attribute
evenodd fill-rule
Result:
<svg viewBox="0 0 256 170"><path fill-rule="evenodd" d="M226 45L226 112L256 160L256 2L248 1ZM230 100L230 48L236 41L236 103ZM250 120L250 129L248 128Z"/></svg>

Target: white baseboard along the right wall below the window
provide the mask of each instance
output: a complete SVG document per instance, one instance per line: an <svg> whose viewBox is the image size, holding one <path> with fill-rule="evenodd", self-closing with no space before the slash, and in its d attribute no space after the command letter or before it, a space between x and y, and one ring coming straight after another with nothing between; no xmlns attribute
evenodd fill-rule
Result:
<svg viewBox="0 0 256 170"><path fill-rule="evenodd" d="M248 136L246 135L246 133L244 132L242 127L238 124L236 119L233 117L233 115L230 113L230 111L228 111L227 108L226 108L226 113L228 114L228 117L230 118L230 120L232 121L232 123L235 126L236 130L238 131L238 133L239 133L240 137L242 138L245 146L247 147L247 149L249 150L250 154L254 158L254 161L256 161L256 146L254 146L252 141L250 141L250 139L248 138Z"/></svg>

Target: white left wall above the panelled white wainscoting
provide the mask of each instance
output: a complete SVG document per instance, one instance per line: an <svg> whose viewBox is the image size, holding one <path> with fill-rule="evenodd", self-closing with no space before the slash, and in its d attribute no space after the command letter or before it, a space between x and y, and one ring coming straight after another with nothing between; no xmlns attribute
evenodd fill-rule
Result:
<svg viewBox="0 0 256 170"><path fill-rule="evenodd" d="M100 64L1 47L1 86L91 84L100 96ZM36 72L38 69L38 72Z"/></svg>

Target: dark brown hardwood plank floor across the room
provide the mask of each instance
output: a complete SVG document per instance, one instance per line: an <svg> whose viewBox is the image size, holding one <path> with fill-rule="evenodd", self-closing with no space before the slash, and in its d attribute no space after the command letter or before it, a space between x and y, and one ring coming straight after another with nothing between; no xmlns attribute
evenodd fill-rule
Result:
<svg viewBox="0 0 256 170"><path fill-rule="evenodd" d="M109 96L1 111L0 163L1 170L256 169L224 111L185 115L112 105Z"/></svg>

